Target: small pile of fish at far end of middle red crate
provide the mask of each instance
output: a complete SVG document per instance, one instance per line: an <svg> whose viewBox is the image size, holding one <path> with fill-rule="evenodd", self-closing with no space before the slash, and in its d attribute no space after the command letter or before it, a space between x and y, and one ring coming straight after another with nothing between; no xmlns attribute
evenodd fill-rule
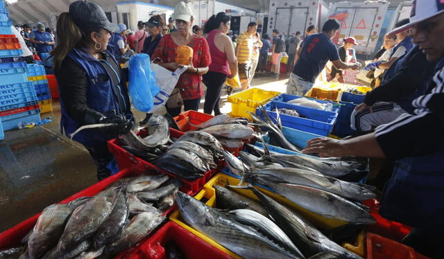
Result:
<svg viewBox="0 0 444 259"><path fill-rule="evenodd" d="M216 139L225 148L241 148L244 141L253 137L253 129L248 127L247 118L230 118L227 114L221 114L210 120L191 126L207 132L216 137Z"/></svg>

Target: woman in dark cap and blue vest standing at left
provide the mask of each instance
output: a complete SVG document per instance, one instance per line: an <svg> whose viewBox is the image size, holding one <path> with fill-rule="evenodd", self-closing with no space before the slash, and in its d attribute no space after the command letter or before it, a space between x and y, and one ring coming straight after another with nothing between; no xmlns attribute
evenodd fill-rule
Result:
<svg viewBox="0 0 444 259"><path fill-rule="evenodd" d="M100 6L75 1L69 12L58 18L59 42L51 52L60 91L62 131L71 136L83 125L116 124L74 136L94 159L99 180L110 175L107 166L112 154L107 141L133 128L126 75L106 50L110 33L117 29Z"/></svg>

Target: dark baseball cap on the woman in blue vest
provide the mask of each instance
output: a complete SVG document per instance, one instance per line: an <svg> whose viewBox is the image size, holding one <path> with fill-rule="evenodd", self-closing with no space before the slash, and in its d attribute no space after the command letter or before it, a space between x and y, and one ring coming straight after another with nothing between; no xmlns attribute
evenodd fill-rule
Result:
<svg viewBox="0 0 444 259"><path fill-rule="evenodd" d="M96 3L86 0L75 1L69 5L69 15L84 32L93 28L104 28L112 33L119 30L119 26L108 21L105 11Z"/></svg>

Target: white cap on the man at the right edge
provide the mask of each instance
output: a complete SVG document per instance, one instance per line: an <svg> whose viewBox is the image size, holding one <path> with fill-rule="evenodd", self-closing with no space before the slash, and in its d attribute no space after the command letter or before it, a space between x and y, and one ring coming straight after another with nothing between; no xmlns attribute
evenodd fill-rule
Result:
<svg viewBox="0 0 444 259"><path fill-rule="evenodd" d="M444 12L443 0L413 0L411 3L410 22L394 30L391 30L388 35L395 35L402 33L405 30L419 24L421 21L425 21L436 15Z"/></svg>

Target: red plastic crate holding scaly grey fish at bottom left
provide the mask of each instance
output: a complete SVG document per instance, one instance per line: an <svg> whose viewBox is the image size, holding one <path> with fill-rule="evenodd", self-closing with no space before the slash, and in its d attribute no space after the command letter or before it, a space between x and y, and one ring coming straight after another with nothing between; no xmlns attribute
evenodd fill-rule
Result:
<svg viewBox="0 0 444 259"><path fill-rule="evenodd" d="M60 203L65 204L80 197L96 195L97 193L100 193L101 190L104 190L106 186L109 186L110 184L114 183L114 181L117 181L124 177L133 177L136 175L140 175L142 174L142 172L146 172L146 168L144 166L139 166L139 165L123 169L120 172L117 172L117 174L115 175L103 179L102 181L99 181L98 183L93 184L92 186L89 186L84 190L80 190L80 192L76 193L75 195L72 195L71 197L68 197L67 199L62 200L62 202ZM184 188L181 188L181 190L182 192L185 191L186 193L191 195L191 192L189 192L188 190L185 190ZM163 215L169 215L169 213L171 213L176 209L177 206L176 204L174 204L173 206L171 206L171 208L165 211ZM20 240L22 240L22 238L34 227L40 214L42 213L38 213L37 215L34 215L33 217L30 217L27 220L24 220L23 222L20 222L19 224L12 226L12 228L0 233L0 250L16 247L17 245L19 245ZM127 252L128 251L123 251L121 255L126 254Z"/></svg>

